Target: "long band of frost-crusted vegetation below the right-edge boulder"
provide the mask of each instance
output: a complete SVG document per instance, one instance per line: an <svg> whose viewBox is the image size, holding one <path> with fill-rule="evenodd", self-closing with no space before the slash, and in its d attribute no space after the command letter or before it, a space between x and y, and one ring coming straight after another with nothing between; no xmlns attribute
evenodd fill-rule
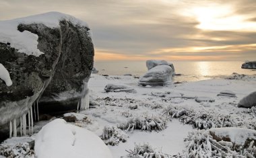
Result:
<svg viewBox="0 0 256 158"><path fill-rule="evenodd" d="M253 108L250 112L253 113L254 110ZM214 111L196 111L190 108L168 106L168 108L164 109L163 113L172 118L179 118L184 124L191 124L194 128L199 130L222 127L247 127L249 129L256 129L256 120L243 120L241 122L238 116L232 117L229 114L220 114Z"/></svg>

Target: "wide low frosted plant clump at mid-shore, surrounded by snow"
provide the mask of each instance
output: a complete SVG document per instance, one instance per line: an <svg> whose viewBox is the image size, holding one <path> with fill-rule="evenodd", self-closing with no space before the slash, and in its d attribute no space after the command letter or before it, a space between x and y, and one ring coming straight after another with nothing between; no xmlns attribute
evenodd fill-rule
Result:
<svg viewBox="0 0 256 158"><path fill-rule="evenodd" d="M118 128L126 131L133 130L164 130L166 128L166 118L162 117L141 117L131 118L125 124L119 124Z"/></svg>

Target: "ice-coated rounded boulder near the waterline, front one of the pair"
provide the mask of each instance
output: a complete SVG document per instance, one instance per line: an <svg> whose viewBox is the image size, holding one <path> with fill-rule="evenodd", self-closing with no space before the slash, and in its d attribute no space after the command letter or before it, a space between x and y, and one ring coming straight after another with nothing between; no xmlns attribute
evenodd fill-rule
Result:
<svg viewBox="0 0 256 158"><path fill-rule="evenodd" d="M150 69L139 79L139 85L168 85L172 80L172 68L168 65L158 65Z"/></svg>

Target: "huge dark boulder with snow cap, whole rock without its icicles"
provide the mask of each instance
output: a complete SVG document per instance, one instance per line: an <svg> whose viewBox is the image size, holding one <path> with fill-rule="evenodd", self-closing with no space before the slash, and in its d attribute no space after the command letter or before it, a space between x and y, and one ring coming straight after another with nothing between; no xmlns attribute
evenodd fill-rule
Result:
<svg viewBox="0 0 256 158"><path fill-rule="evenodd" d="M87 92L93 57L90 28L71 15L50 12L1 21L0 63L12 85L0 79L0 127L18 125L29 111L34 116L32 104L41 96L40 110L76 109Z"/></svg>

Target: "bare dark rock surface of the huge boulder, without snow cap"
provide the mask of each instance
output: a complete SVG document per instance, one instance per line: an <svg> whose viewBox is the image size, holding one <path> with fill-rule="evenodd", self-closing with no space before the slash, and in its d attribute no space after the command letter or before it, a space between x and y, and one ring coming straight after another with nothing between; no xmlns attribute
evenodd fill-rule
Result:
<svg viewBox="0 0 256 158"><path fill-rule="evenodd" d="M9 71L13 81L13 85L7 87L0 79L0 127L26 114L41 96L41 106L48 102L58 106L71 99L77 104L82 92L86 91L84 84L90 77L94 57L90 29L65 19L59 22L59 26L18 26L20 32L26 30L38 35L38 49L44 52L38 57L0 43L0 63ZM61 93L68 94L68 97L60 98Z"/></svg>

